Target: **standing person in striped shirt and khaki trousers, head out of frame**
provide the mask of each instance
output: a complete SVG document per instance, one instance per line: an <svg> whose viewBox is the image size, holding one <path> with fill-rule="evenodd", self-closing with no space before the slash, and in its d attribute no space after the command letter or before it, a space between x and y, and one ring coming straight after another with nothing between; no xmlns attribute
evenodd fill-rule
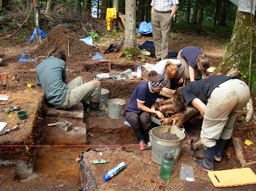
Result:
<svg viewBox="0 0 256 191"><path fill-rule="evenodd" d="M151 25L155 45L154 61L168 59L171 20L178 9L178 0L152 0Z"/></svg>

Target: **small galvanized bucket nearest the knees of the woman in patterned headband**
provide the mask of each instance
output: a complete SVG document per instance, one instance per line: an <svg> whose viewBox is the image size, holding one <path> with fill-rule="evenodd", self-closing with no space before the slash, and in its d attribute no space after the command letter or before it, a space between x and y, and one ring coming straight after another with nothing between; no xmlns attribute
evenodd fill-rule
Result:
<svg viewBox="0 0 256 191"><path fill-rule="evenodd" d="M112 119L120 119L124 114L124 99L107 100L108 117Z"/></svg>

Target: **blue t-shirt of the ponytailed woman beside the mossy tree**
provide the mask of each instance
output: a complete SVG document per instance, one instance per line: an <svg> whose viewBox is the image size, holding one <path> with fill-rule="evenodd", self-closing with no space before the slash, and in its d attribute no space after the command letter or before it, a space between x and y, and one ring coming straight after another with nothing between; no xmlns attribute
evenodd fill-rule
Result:
<svg viewBox="0 0 256 191"><path fill-rule="evenodd" d="M180 56L187 60L188 65L191 68L196 68L197 67L197 61L196 58L203 54L202 51L199 48L190 46L190 47L185 47L182 49L182 52L180 53Z"/></svg>

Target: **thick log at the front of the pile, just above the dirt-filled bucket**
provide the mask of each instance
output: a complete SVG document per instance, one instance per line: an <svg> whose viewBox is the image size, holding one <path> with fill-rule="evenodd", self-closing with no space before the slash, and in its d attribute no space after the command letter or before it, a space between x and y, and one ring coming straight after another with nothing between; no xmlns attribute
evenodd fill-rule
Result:
<svg viewBox="0 0 256 191"><path fill-rule="evenodd" d="M181 128L181 123L186 123L190 119L198 116L200 112L195 108L188 108L181 116L174 118L172 122L173 127Z"/></svg>

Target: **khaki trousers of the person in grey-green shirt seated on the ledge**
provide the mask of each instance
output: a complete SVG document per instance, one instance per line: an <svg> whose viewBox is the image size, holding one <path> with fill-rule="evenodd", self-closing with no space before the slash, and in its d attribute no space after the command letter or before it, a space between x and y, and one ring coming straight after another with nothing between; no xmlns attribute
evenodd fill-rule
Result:
<svg viewBox="0 0 256 191"><path fill-rule="evenodd" d="M101 83L98 80L84 83L83 77L79 76L71 80L66 86L73 89L64 103L56 108L69 109L87 98L90 98L92 102L101 101Z"/></svg>

